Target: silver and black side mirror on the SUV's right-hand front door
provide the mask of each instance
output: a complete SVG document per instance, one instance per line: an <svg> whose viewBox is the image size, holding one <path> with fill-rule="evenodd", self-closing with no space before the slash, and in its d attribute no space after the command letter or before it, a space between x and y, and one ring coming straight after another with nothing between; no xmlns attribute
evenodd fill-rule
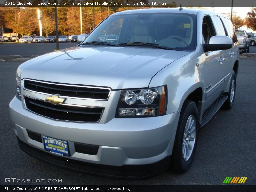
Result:
<svg viewBox="0 0 256 192"><path fill-rule="evenodd" d="M216 35L212 36L209 43L203 44L204 52L230 49L232 40L228 36Z"/></svg>

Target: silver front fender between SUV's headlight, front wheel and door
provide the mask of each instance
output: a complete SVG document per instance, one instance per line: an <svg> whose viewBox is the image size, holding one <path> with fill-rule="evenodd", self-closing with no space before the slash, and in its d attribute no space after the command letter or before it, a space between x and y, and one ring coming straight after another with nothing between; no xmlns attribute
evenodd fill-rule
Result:
<svg viewBox="0 0 256 192"><path fill-rule="evenodd" d="M197 88L204 87L197 68L200 63L201 55L194 51L174 61L152 78L149 87L167 85L167 114L181 110L188 95Z"/></svg>

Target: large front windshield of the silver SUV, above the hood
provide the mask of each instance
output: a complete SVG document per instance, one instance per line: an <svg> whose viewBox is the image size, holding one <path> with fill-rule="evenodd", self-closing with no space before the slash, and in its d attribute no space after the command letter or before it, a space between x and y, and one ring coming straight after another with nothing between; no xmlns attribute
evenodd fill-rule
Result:
<svg viewBox="0 0 256 192"><path fill-rule="evenodd" d="M119 46L149 46L194 50L195 15L185 13L137 13L112 15L83 42ZM138 44L140 42L140 44ZM146 44L141 44L146 43Z"/></svg>

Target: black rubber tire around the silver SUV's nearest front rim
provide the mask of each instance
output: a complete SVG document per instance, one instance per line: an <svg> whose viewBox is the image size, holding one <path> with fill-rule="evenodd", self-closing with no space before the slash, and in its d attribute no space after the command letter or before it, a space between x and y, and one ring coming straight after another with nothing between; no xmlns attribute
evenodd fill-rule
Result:
<svg viewBox="0 0 256 192"><path fill-rule="evenodd" d="M194 143L194 147L192 149L190 157L188 157L188 159L185 160L183 157L183 153L182 153L183 136L184 136L186 123L190 116L194 116L195 121L196 121L195 143ZM172 166L172 169L176 173L184 173L191 166L194 156L195 156L195 152L196 152L199 128L200 128L199 113L198 113L198 108L196 106L196 103L191 100L185 100L185 102L181 108L179 123L178 123L174 146L173 146L173 150L172 150L171 166ZM187 139L187 137L186 137L186 139ZM186 140L185 140L185 142L186 142Z"/></svg>

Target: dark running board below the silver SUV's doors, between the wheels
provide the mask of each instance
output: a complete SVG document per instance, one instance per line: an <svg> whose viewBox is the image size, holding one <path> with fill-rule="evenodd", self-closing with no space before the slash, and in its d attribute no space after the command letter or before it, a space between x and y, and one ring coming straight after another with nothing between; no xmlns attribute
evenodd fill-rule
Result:
<svg viewBox="0 0 256 192"><path fill-rule="evenodd" d="M221 95L219 99L217 99L210 108L208 108L202 117L201 121L201 127L203 127L205 124L207 124L211 118L214 116L214 114L220 109L220 107L223 105L223 103L228 98L227 94Z"/></svg>

